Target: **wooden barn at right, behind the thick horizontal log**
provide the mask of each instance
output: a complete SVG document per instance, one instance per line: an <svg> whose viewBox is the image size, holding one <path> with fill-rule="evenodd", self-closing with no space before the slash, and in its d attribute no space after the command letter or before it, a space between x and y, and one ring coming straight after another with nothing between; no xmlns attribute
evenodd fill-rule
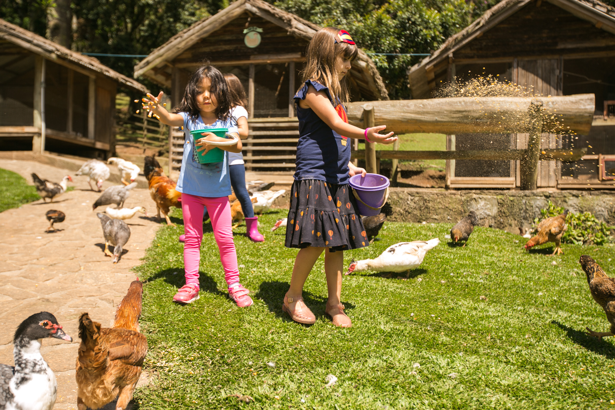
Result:
<svg viewBox="0 0 615 410"><path fill-rule="evenodd" d="M615 188L615 8L595 0L504 0L408 71L413 98L456 79L493 76L534 95L595 94L588 135L542 134L542 149L587 148L541 160L539 187ZM611 116L611 114L614 114ZM447 149L525 149L527 134L449 135ZM520 185L514 160L449 160L449 187Z"/></svg>

